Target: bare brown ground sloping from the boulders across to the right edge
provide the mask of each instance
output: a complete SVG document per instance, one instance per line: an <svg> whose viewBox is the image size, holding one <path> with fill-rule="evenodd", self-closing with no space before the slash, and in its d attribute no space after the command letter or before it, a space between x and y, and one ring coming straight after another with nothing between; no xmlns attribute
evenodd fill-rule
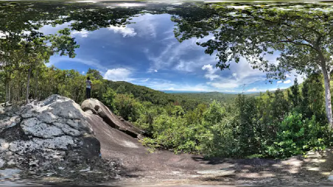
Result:
<svg viewBox="0 0 333 187"><path fill-rule="evenodd" d="M106 185L278 185L331 186L333 151L310 152L287 160L210 159L170 151L149 153L141 143L109 126L93 126L102 158L120 159L124 175Z"/></svg>

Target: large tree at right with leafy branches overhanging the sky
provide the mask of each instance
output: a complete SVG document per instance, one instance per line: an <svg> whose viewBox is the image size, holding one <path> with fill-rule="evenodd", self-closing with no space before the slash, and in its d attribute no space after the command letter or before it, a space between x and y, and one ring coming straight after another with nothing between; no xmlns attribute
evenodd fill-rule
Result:
<svg viewBox="0 0 333 187"><path fill-rule="evenodd" d="M242 4L244 5L244 4ZM186 11L173 16L177 24L175 36L181 42L191 37L214 35L198 45L207 54L217 55L221 70L247 60L254 69L267 72L267 78L285 79L286 73L296 71L309 75L321 72L325 85L327 119L333 128L330 73L333 49L333 16L330 5L304 4L284 9L274 5L231 8L225 4L203 5L201 13L193 16ZM276 64L265 57L277 53Z"/></svg>

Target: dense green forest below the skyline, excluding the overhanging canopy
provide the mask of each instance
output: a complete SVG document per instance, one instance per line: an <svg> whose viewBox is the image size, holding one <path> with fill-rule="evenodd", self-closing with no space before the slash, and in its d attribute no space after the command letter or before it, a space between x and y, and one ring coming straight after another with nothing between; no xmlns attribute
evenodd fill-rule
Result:
<svg viewBox="0 0 333 187"><path fill-rule="evenodd" d="M20 76L19 72L15 76ZM82 75L75 70L40 66L31 72L29 95L43 99L50 94L61 94L81 103L85 99L87 76L93 85L92 97L145 129L150 137L142 143L152 151L284 158L312 149L323 150L331 144L319 74L311 75L301 85L295 80L294 86L284 91L235 94L224 102L222 98L209 98L224 94L166 94L127 82L105 80L93 69ZM22 76L19 80L24 83L26 79ZM10 84L10 88L18 88L19 83ZM5 101L4 86L1 85L1 101ZM9 92L11 102L24 100L26 87L20 89Z"/></svg>

